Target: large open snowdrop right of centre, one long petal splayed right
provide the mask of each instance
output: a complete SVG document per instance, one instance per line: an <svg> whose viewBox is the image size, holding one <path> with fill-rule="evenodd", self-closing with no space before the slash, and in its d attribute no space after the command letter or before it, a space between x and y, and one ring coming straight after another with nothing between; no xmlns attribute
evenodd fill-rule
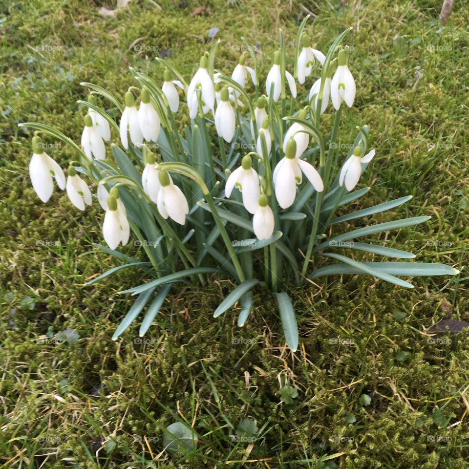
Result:
<svg viewBox="0 0 469 469"><path fill-rule="evenodd" d="M285 156L278 162L273 174L275 185L275 196L278 205L282 209L287 209L295 201L297 184L301 183L301 173L308 178L309 182L318 192L324 190L321 176L312 165L300 160L295 156L297 144L293 138L287 143Z"/></svg>

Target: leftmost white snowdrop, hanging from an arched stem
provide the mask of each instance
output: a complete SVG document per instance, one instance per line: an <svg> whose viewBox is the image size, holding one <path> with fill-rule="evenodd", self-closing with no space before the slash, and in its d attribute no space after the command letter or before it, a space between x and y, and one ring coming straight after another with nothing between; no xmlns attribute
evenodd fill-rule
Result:
<svg viewBox="0 0 469 469"><path fill-rule="evenodd" d="M43 142L40 137L32 139L33 156L29 163L29 177L38 197L47 202L54 192L53 177L57 185L65 189L65 175L62 168L43 150Z"/></svg>

